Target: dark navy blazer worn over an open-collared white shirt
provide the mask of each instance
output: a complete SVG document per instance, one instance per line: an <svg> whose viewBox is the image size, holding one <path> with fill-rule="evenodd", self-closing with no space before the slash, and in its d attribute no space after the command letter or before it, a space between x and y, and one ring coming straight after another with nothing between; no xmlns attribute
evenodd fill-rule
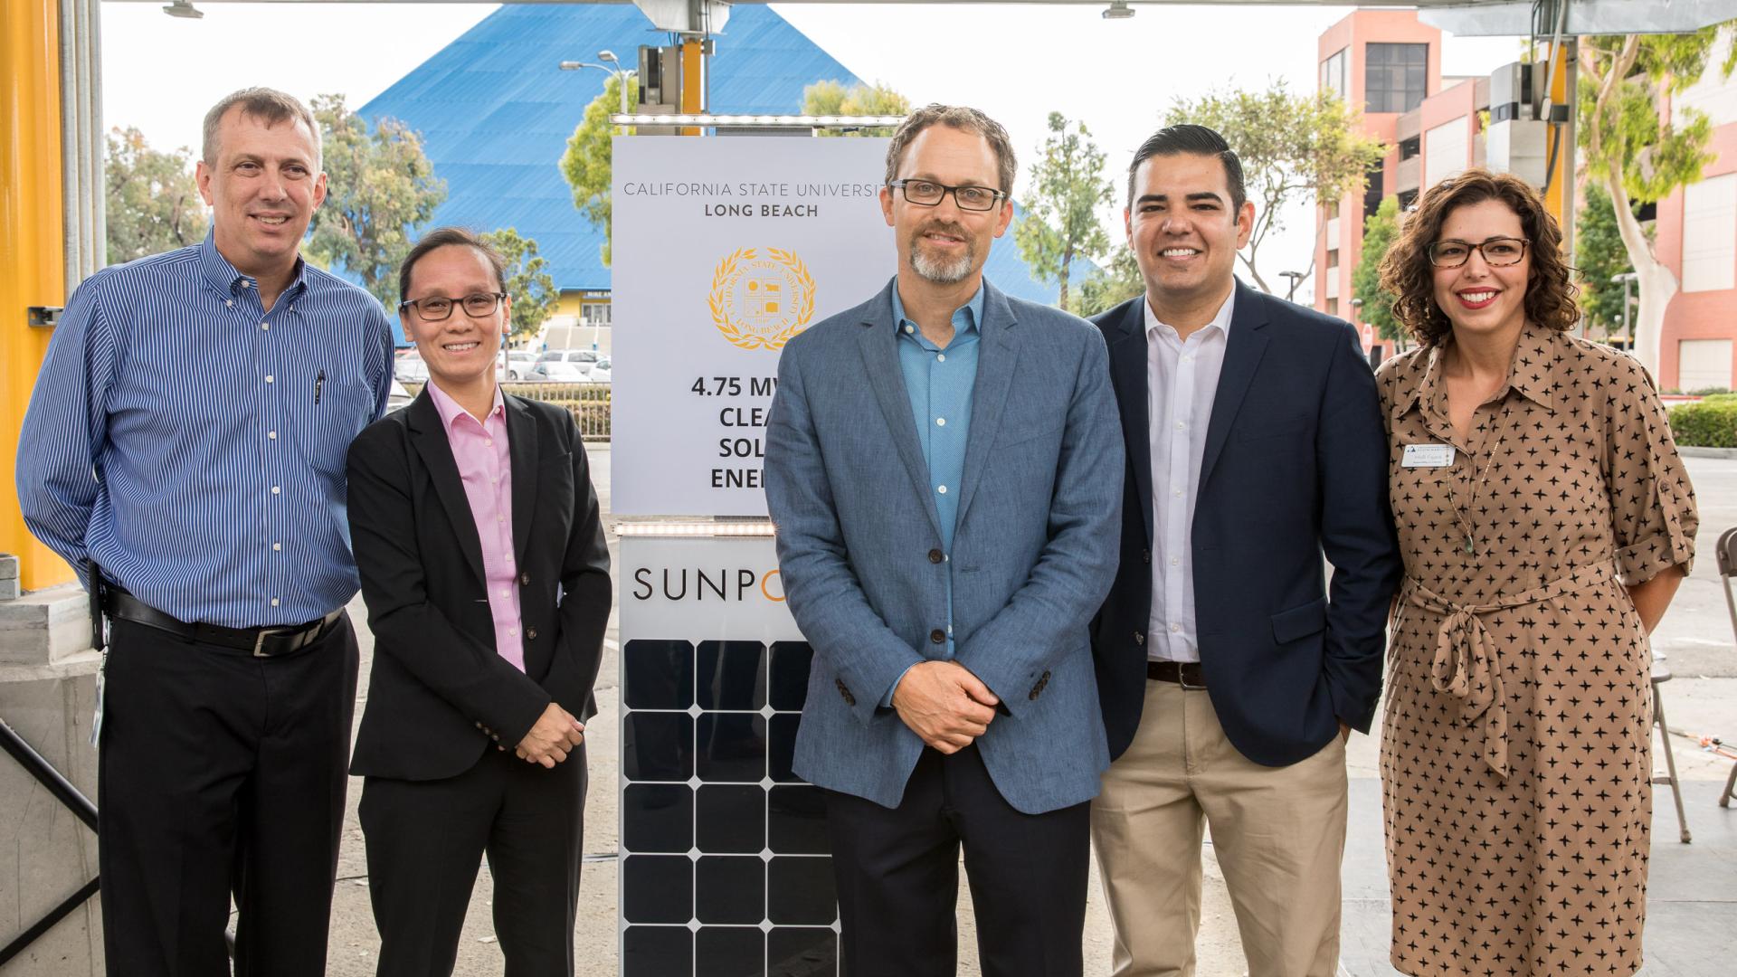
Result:
<svg viewBox="0 0 1737 977"><path fill-rule="evenodd" d="M1127 447L1122 563L1093 622L1112 756L1139 727L1152 615L1145 301L1093 320ZM1350 323L1237 283L1192 542L1200 668L1230 742L1284 767L1341 721L1369 732L1400 556L1381 403Z"/></svg>

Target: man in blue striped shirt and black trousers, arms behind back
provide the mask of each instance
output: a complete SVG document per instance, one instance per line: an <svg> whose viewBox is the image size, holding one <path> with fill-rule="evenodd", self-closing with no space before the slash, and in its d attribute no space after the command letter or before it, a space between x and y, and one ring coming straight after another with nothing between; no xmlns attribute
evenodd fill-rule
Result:
<svg viewBox="0 0 1737 977"><path fill-rule="evenodd" d="M205 116L203 243L99 271L49 344L24 518L111 622L97 694L109 974L325 972L356 692L344 457L391 388L380 304L301 259L320 127Z"/></svg>

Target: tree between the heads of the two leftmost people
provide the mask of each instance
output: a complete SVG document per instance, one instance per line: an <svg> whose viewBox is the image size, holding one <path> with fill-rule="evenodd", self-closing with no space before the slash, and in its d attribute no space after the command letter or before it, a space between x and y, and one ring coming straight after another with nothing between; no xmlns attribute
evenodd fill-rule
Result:
<svg viewBox="0 0 1737 977"><path fill-rule="evenodd" d="M398 304L398 266L417 226L446 200L446 181L422 153L422 136L396 118L368 123L344 96L318 96L314 118L325 141L327 200L314 210L304 252L342 266L386 308Z"/></svg>

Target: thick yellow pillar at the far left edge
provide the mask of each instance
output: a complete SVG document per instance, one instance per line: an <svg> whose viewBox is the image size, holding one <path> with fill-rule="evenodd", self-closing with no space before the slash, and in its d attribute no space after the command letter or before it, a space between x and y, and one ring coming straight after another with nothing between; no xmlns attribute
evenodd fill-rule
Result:
<svg viewBox="0 0 1737 977"><path fill-rule="evenodd" d="M0 0L0 553L19 558L24 589L73 579L24 528L14 490L24 407L54 332L24 309L66 304L59 49L56 0Z"/></svg>

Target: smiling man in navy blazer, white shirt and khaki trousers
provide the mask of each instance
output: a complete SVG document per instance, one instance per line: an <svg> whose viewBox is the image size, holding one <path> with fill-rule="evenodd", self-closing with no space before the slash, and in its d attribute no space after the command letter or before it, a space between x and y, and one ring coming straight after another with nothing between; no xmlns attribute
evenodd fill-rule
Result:
<svg viewBox="0 0 1737 977"><path fill-rule="evenodd" d="M1146 139L1127 200L1146 290L1094 320L1127 452L1093 622L1115 974L1193 974L1211 824L1249 972L1331 977L1344 739L1374 718L1400 575L1374 377L1348 323L1235 280L1254 205L1218 132Z"/></svg>

